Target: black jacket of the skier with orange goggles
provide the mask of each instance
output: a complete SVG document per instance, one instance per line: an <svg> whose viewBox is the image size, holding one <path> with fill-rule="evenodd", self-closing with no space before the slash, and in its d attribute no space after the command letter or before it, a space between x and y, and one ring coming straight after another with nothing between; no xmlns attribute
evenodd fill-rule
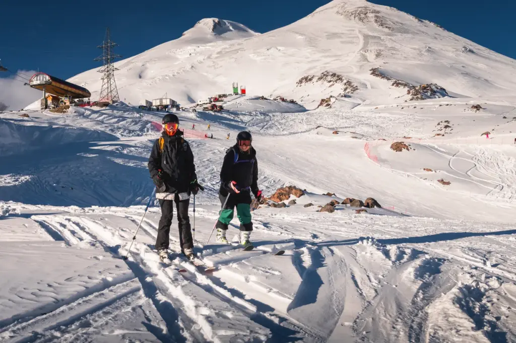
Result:
<svg viewBox="0 0 516 343"><path fill-rule="evenodd" d="M187 192L190 182L197 179L193 153L190 145L183 139L183 133L178 130L174 136L162 134L165 142L163 152L159 152L159 139L152 146L149 157L149 172L151 178L161 170L161 178L167 193Z"/></svg>

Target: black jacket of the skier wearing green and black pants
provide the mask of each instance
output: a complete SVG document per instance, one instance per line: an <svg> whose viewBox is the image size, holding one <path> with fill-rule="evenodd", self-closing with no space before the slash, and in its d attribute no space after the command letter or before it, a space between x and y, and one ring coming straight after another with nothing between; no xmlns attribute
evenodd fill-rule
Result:
<svg viewBox="0 0 516 343"><path fill-rule="evenodd" d="M236 182L239 190L250 190L254 196L258 193L258 161L256 151L251 146L249 152L241 152L238 144L226 151L220 171L220 194L227 197L229 183Z"/></svg>

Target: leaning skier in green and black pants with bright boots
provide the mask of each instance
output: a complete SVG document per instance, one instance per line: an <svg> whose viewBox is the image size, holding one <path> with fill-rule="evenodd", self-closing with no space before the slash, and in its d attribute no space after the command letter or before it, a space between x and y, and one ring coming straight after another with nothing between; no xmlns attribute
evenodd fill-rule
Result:
<svg viewBox="0 0 516 343"><path fill-rule="evenodd" d="M252 136L243 131L236 137L236 144L226 151L220 171L219 199L224 208L217 221L217 242L228 244L225 232L233 219L234 209L240 220L240 244L251 246L249 236L253 230L251 222L251 192L257 200L262 197L258 189L258 162L256 151L251 146ZM229 198L227 198L229 196Z"/></svg>

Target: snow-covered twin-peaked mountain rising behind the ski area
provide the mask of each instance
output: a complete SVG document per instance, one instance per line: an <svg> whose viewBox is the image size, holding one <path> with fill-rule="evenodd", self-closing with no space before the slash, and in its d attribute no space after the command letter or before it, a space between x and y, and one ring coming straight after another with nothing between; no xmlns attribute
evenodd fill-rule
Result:
<svg viewBox="0 0 516 343"><path fill-rule="evenodd" d="M514 60L365 0L334 0L261 35L238 23L204 19L181 38L116 66L121 98L133 104L167 93L186 105L231 92L233 81L248 93L283 95L309 108L330 95L404 102L411 99L407 87L423 84L484 99L516 91ZM98 96L96 69L70 80Z"/></svg>

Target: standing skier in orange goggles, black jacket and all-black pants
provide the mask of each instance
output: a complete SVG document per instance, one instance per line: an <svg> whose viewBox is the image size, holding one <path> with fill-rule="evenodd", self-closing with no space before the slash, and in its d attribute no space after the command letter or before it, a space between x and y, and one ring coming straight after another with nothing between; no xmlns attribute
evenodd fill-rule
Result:
<svg viewBox="0 0 516 343"><path fill-rule="evenodd" d="M199 187L193 153L183 139L179 118L172 113L163 117L162 137L156 140L149 157L149 172L156 185L156 198L162 209L159 220L156 250L160 258L168 257L170 225L173 218L173 202L178 211L179 241L181 250L193 257L193 239L188 218L190 193L197 194Z"/></svg>

